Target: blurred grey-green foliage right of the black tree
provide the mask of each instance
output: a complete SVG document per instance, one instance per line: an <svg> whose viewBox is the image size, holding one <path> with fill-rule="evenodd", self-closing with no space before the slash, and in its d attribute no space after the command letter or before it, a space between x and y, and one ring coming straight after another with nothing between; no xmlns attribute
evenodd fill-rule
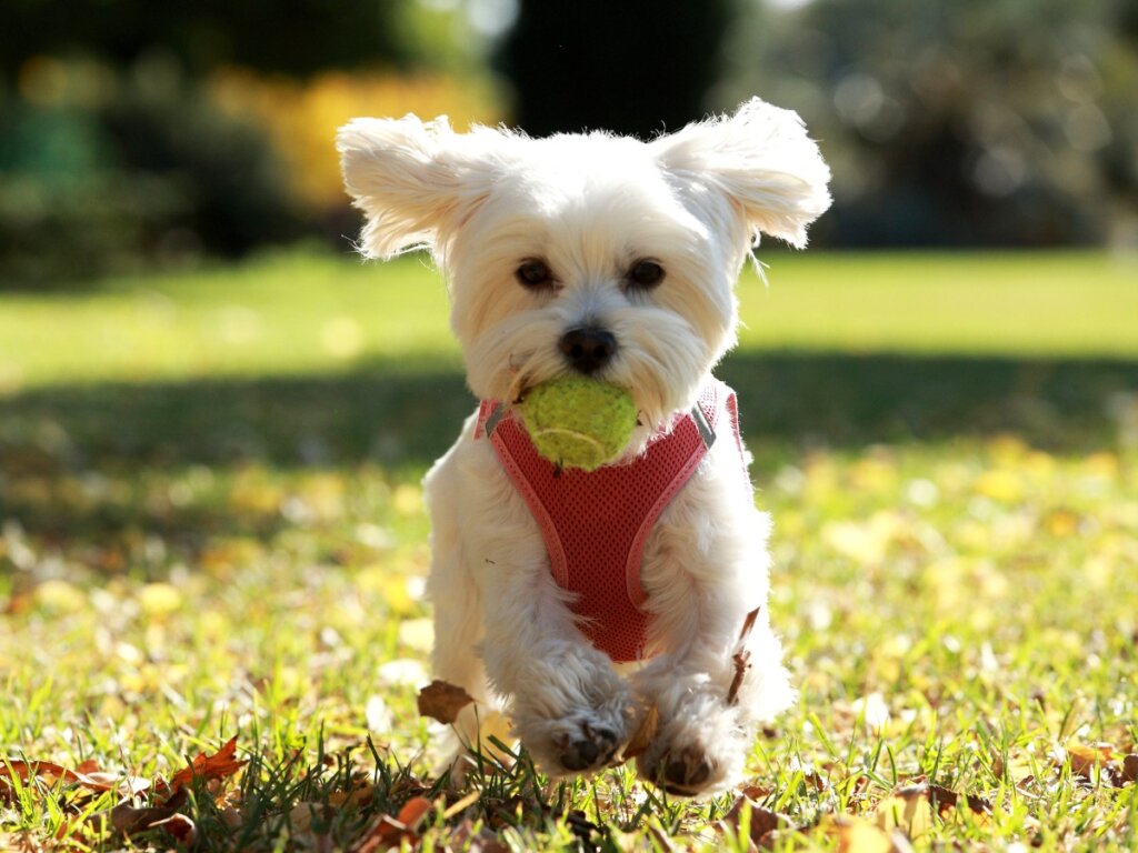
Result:
<svg viewBox="0 0 1138 853"><path fill-rule="evenodd" d="M1138 13L1123 0L749 5L728 108L797 109L838 246L1138 245Z"/></svg>

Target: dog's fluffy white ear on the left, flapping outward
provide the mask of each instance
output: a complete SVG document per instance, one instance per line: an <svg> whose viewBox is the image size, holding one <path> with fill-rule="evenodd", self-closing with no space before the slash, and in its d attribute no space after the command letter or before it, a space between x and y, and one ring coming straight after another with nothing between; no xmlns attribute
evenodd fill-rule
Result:
<svg viewBox="0 0 1138 853"><path fill-rule="evenodd" d="M493 180L472 141L454 133L446 116L426 123L413 115L356 118L339 130L344 185L368 217L364 255L437 248L470 215Z"/></svg>

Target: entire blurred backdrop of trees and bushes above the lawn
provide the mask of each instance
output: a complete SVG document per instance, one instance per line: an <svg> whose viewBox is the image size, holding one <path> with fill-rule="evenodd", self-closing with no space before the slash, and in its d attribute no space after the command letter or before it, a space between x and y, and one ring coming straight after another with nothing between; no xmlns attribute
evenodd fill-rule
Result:
<svg viewBox="0 0 1138 853"><path fill-rule="evenodd" d="M818 247L1138 245L1128 0L7 0L0 287L356 231L332 136L651 135L753 94L834 168Z"/></svg>

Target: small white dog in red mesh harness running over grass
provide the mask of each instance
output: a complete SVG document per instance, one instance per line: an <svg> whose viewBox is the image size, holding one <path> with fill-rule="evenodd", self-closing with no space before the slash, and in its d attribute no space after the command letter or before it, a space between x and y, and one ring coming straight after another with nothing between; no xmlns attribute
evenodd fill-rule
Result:
<svg viewBox="0 0 1138 853"><path fill-rule="evenodd" d="M551 776L595 771L651 718L642 777L692 796L735 784L757 723L793 691L765 610L769 520L711 368L735 341L733 285L760 232L801 247L830 205L817 146L756 99L651 142L407 116L353 121L338 149L362 251L431 250L485 401L426 479L435 676L478 701L454 727L455 772L488 730ZM630 389L638 424L597 472L550 464L553 497L535 503L500 428L528 388L572 372ZM688 462L651 491L660 478L636 465L673 436ZM625 478L627 499L597 475ZM559 483L577 532L542 514Z"/></svg>

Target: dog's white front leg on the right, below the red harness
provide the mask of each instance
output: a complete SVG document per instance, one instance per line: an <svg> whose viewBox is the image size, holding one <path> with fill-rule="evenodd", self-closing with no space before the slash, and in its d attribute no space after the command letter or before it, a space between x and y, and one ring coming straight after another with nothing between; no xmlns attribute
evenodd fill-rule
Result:
<svg viewBox="0 0 1138 853"><path fill-rule="evenodd" d="M766 613L769 521L692 481L645 552L643 579L665 649L636 684L659 714L641 776L694 796L736 782L758 721L792 691Z"/></svg>

